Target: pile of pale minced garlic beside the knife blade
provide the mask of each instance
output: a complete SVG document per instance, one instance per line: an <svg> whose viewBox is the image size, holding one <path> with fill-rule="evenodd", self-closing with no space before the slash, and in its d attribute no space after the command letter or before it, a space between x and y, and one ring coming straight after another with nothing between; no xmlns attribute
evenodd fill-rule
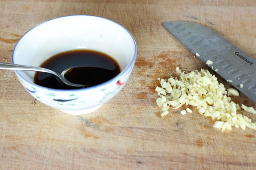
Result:
<svg viewBox="0 0 256 170"><path fill-rule="evenodd" d="M255 114L256 111L252 107L244 105L240 107L227 96L227 94L239 95L236 89L229 89L227 92L224 85L219 83L208 70L185 73L177 67L176 72L180 74L180 78L172 76L168 79L159 78L161 87L156 87L159 96L156 103L162 107L162 117L169 113L170 108L177 109L183 105L191 105L196 107L201 115L210 116L212 120L217 119L213 127L222 131L230 130L232 126L256 129L256 123L236 113L241 107L249 113ZM185 115L187 112L192 113L192 110L187 108L180 113Z"/></svg>

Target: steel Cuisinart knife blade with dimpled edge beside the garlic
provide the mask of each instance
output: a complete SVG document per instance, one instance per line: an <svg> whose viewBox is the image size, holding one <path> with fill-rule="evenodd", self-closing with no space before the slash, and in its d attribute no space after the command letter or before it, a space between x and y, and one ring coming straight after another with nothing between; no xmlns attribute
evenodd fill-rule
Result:
<svg viewBox="0 0 256 170"><path fill-rule="evenodd" d="M212 70L256 102L256 60L217 32L187 21L163 26Z"/></svg>

